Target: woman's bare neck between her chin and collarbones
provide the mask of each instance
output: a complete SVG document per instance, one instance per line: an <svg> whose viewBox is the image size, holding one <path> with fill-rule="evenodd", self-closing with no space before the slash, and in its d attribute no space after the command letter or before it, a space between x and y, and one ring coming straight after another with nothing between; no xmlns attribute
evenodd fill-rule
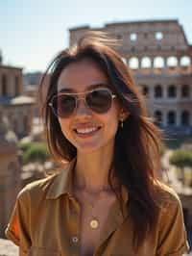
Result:
<svg viewBox="0 0 192 256"><path fill-rule="evenodd" d="M108 172L112 167L112 159L113 148L105 148L105 152L103 150L90 153L78 152L75 187L86 192L108 190Z"/></svg>

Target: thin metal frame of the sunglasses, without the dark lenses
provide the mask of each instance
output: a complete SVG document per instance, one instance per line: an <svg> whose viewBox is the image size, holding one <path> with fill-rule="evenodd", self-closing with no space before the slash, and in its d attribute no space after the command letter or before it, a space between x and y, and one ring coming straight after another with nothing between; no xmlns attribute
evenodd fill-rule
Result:
<svg viewBox="0 0 192 256"><path fill-rule="evenodd" d="M112 100L117 96L117 95L115 95L114 93L112 93L112 91L109 90L108 88L99 88L99 89L93 89L93 90L86 90L86 91L84 91L84 92L77 92L77 93L74 93L74 92L60 92L60 93L55 94L55 95L52 96L52 98L51 98L50 102L48 103L48 105L51 107L51 109L52 109L54 115L56 115L57 117L60 117L60 118L67 118L67 117L73 115L73 114L77 111L77 108L78 108L78 101L81 100L81 99L83 99L83 100L84 100L84 105L86 106L86 108L88 108L89 110L91 110L92 112L94 112L94 113L96 113L96 114L100 114L100 113L97 113L96 111L92 110L91 107L89 107L88 104L87 104L87 102L86 102L86 95L87 95L88 93L91 93L91 92L97 91L97 90L108 90L108 92L109 92L109 94L110 94L110 96L111 96L111 102L112 102ZM73 112L72 112L70 115L66 116L66 117L65 117L65 116L63 117L63 116L57 115L57 113L56 113L56 111L55 111L55 108L54 108L54 105L53 105L53 100L54 100L54 98L56 98L56 97L58 97L58 96L60 96L60 95L70 95L70 96L73 96L73 97L75 98L75 108L74 108ZM84 95L84 96L78 97L79 95ZM110 106L110 108L111 108L111 106ZM108 109L109 109L109 108L108 108ZM108 112L108 111L107 111L107 112ZM106 113L106 112L104 112L104 113Z"/></svg>

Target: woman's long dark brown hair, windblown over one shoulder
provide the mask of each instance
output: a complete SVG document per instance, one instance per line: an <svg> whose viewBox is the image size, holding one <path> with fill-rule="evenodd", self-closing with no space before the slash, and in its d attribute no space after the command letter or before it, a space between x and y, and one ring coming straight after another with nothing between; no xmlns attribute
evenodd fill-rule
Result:
<svg viewBox="0 0 192 256"><path fill-rule="evenodd" d="M116 133L113 166L115 175L129 192L128 210L133 223L133 244L137 249L156 226L156 188L159 184L156 173L160 167L161 132L149 118L143 96L129 67L114 50L113 42L104 33L89 32L77 44L60 52L45 72L46 75L52 67L42 114L52 155L59 162L71 161L77 149L64 137L58 118L48 106L57 93L60 73L68 64L89 58L108 76L112 90L130 114ZM43 80L40 91L44 93Z"/></svg>

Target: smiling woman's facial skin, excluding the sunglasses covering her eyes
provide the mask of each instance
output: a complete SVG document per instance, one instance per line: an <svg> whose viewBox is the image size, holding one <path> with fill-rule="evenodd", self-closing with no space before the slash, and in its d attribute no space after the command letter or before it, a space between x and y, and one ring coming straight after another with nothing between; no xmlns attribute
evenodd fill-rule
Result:
<svg viewBox="0 0 192 256"><path fill-rule="evenodd" d="M58 92L65 90L74 93L85 92L92 90L91 86L101 84L108 84L106 74L93 61L84 59L64 68L58 81ZM105 86L97 86L97 88L100 87L105 88ZM91 152L113 146L119 119L120 106L117 98L112 100L110 109L104 114L91 111L84 104L84 99L81 98L73 115L65 118L59 117L63 135L78 151L82 152ZM96 128L96 130L82 134L81 132L87 128Z"/></svg>

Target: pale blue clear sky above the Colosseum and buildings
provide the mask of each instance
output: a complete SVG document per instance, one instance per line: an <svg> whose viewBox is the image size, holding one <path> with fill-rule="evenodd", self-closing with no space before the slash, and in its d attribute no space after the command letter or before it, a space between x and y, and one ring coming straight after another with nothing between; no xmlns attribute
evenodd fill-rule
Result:
<svg viewBox="0 0 192 256"><path fill-rule="evenodd" d="M178 18L192 44L192 0L0 0L0 49L4 64L44 71L69 28L164 18Z"/></svg>

